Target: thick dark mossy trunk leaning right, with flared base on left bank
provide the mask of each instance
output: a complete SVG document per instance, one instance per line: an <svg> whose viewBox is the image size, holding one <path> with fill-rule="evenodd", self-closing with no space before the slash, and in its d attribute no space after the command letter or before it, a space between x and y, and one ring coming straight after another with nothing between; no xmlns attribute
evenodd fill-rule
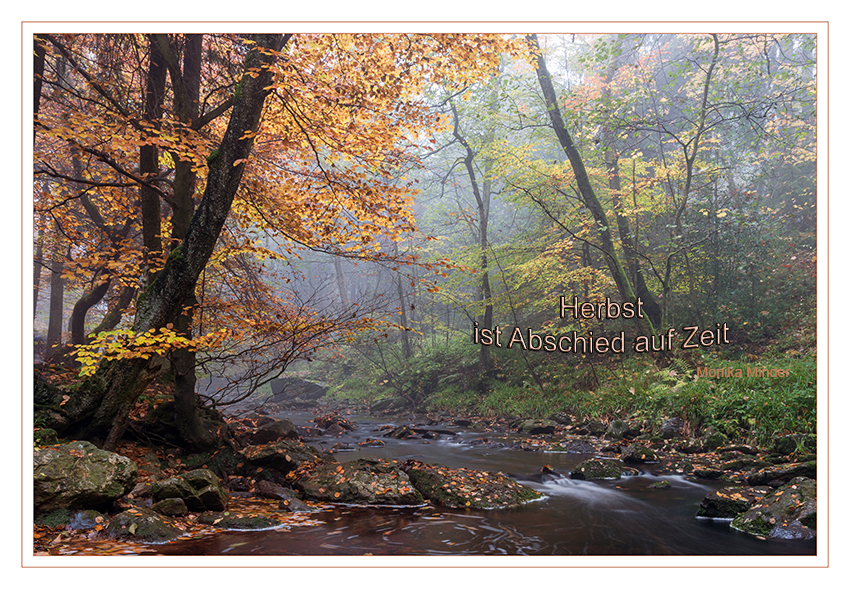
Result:
<svg viewBox="0 0 850 589"><path fill-rule="evenodd" d="M272 82L269 68L276 57L262 49L279 51L285 42L283 35L250 38L252 47L260 50L248 52L244 68L256 77L244 75L239 83L227 130L218 149L209 157L206 189L183 243L171 252L156 279L139 294L133 324L137 333L177 321L183 302L195 291L198 277L230 212ZM37 391L36 402L50 397L50 407L43 413L50 418L49 423L61 427L63 434L79 438L108 434L104 448L113 449L124 433L130 409L153 378L149 363L141 358L104 362L77 390ZM62 394L70 398L60 406Z"/></svg>

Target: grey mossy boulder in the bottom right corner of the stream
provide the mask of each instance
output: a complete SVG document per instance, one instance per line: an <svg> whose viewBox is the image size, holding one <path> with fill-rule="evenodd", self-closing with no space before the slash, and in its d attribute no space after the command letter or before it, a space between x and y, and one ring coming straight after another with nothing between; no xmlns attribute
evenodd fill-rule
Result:
<svg viewBox="0 0 850 589"><path fill-rule="evenodd" d="M792 479L738 515L730 525L761 538L814 538L817 535L817 482L805 477Z"/></svg>

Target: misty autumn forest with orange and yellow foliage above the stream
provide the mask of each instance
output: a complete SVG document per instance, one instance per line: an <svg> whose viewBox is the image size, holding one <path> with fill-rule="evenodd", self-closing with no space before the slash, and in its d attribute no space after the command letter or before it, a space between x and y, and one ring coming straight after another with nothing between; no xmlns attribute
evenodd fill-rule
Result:
<svg viewBox="0 0 850 589"><path fill-rule="evenodd" d="M811 329L814 36L33 43L34 313L82 378L37 384L59 431L114 445L164 370L183 439L209 445L203 405L345 346L388 382L473 325L602 328L562 295L640 299L620 327L652 341L728 323L761 353ZM199 396L214 373L234 390Z"/></svg>

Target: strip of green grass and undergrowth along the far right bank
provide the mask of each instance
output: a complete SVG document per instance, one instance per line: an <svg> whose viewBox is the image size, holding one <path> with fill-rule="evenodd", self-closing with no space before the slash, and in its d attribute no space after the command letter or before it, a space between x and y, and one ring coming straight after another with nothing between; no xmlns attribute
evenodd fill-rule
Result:
<svg viewBox="0 0 850 589"><path fill-rule="evenodd" d="M577 419L640 421L657 432L671 417L685 420L687 433L711 426L733 440L765 444L785 432L816 433L816 359L725 359L704 354L688 363L674 360L659 370L648 355L590 364L546 353L494 349L491 377L478 366L477 348L468 340L426 348L407 362L385 369L360 363L335 394L373 402L405 396L418 409L486 417L541 418L566 411ZM781 368L788 377L712 378L697 366L741 369Z"/></svg>

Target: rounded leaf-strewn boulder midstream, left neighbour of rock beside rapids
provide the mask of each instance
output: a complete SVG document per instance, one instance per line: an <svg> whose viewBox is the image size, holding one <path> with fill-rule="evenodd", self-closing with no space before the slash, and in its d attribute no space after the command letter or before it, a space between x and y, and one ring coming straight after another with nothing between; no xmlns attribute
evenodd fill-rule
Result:
<svg viewBox="0 0 850 589"><path fill-rule="evenodd" d="M307 469L295 481L306 497L357 505L421 505L422 495L395 460L361 458L323 463Z"/></svg>

